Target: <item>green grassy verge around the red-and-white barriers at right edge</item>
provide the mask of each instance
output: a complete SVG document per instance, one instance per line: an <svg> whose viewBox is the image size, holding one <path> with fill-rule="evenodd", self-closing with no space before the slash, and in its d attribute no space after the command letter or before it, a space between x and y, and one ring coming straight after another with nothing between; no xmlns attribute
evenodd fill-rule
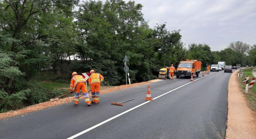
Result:
<svg viewBox="0 0 256 139"><path fill-rule="evenodd" d="M249 76L249 83L251 82L252 78L255 78L252 74L252 70L254 68L246 68L243 70L244 75L241 79L239 79L239 86L241 91L245 94L245 83L243 83L246 76ZM249 102L249 107L256 112L256 84L253 85L252 89L248 90L248 94L245 94L246 99Z"/></svg>

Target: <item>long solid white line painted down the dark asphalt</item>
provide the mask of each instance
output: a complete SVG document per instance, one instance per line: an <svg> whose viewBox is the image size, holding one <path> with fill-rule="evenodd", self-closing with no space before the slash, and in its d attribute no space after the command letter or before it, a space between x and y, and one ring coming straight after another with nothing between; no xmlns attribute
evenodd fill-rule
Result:
<svg viewBox="0 0 256 139"><path fill-rule="evenodd" d="M216 72L216 73L219 73L219 72ZM213 74L216 74L216 73L213 73ZM212 74L206 75L206 76L204 76L204 77L207 77L207 76L210 76L210 75L212 75ZM204 78L204 77L202 77L202 78ZM199 79L201 79L201 78L199 78ZM196 80L199 80L199 79L196 79ZM193 82L195 82L196 80L194 80ZM177 88L175 88L175 89L173 89L173 90L171 90L171 91L169 91L169 92L166 92L166 93L164 93L164 94L162 94L162 95L159 95L159 96L155 97L153 100L155 100L155 99L157 99L157 98L159 98L159 97L161 97L161 96L163 96L163 95L166 95L166 94L168 94L168 93L170 93L170 92L172 92L172 91L175 91L175 90L177 90L177 89L179 89L179 88L181 88L181 87L183 87L183 86L186 86L187 84L190 84L190 83L192 83L192 82L188 82L188 83L186 83L186 84L184 84L184 85L182 85L182 86L180 86L180 87L177 87ZM94 128L97 128L98 126L100 126L100 125L102 125L102 124L105 124L105 123L108 122L108 121L111 121L111 120L113 120L113 119L115 119L115 118L117 118L117 117L119 117L119 116L121 116L121 115L123 115L123 114L125 114L125 113L127 113L127 112L130 112L130 111L136 109L137 107L141 107L142 105L144 105L144 104L146 104L146 103L149 103L149 102L150 102L150 101L146 101L146 102L144 102L144 103L141 103L140 105L137 105L137 106L135 106L135 107L133 107L133 108L131 108L131 109L128 109L127 111L124 111L124 112L122 112L122 113L120 113L120 114L118 114L118 115L116 115L116 116L114 116L114 117L111 117L111 118L109 118L109 119L107 119L107 120L105 120L105 121L103 121L103 122L101 122L101 123L99 123L99 124L96 124L96 125L94 125L94 126L88 128L88 129L86 129L86 130L84 130L84 131L82 131L82 132L80 132L80 133L77 133L77 134L75 134L74 136L69 137L69 138L67 138L67 139L73 139L73 138L75 138L75 137L78 137L78 136L80 136L80 135L82 135L82 134L84 134L84 133L86 133L86 132L88 132L88 131L90 131L90 130L92 130L92 129L94 129Z"/></svg>

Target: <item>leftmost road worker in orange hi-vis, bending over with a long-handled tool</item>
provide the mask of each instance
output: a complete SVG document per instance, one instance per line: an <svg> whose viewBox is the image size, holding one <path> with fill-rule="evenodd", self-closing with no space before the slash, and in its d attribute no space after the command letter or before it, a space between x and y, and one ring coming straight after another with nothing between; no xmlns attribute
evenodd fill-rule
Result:
<svg viewBox="0 0 256 139"><path fill-rule="evenodd" d="M87 88L85 85L85 80L83 76L78 75L76 72L72 73L72 79L70 82L70 91L75 91L75 105L78 105L79 103L79 91L80 89L82 90L83 97L85 102L87 103L88 106L91 105L91 101L87 92Z"/></svg>

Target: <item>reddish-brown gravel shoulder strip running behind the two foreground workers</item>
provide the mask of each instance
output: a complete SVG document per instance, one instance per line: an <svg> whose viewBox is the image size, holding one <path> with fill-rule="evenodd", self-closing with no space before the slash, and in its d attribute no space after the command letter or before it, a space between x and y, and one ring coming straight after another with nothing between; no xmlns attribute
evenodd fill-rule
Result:
<svg viewBox="0 0 256 139"><path fill-rule="evenodd" d="M147 82L139 82L139 83L134 83L134 84L129 84L129 85L114 86L114 87L102 90L101 94L106 94L106 93L109 93L109 92L112 92L112 91L118 91L118 90L130 88L130 87L136 87L136 86L145 85L145 84L158 82L158 81L162 81L162 80L155 79L155 80L151 80L151 81L147 81ZM146 95L146 90L145 90L145 95ZM89 94L89 96L91 97L92 95ZM81 97L81 98L83 98L83 97ZM0 119L8 118L8 117L11 117L11 116L18 116L18 115L22 115L22 114L25 114L25 113L28 113L28 112L43 110L43 109L48 108L48 107L68 103L68 102L71 102L71 101L74 101L74 96L66 97L64 99L59 99L59 100L56 100L56 101L47 101L47 102L35 104L35 105L25 107L25 108L20 109L20 110L0 113Z"/></svg>

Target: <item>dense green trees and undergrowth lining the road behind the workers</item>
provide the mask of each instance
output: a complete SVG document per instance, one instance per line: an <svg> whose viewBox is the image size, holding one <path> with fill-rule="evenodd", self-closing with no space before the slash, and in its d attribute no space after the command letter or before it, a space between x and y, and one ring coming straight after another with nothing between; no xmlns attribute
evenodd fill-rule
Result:
<svg viewBox="0 0 256 139"><path fill-rule="evenodd" d="M202 70L218 61L256 65L256 44L186 45L179 28L167 30L164 21L150 28L142 8L122 0L0 1L0 112L66 93L73 71L94 69L103 86L122 85L125 55L131 83L156 79L165 60L177 67L197 59Z"/></svg>

